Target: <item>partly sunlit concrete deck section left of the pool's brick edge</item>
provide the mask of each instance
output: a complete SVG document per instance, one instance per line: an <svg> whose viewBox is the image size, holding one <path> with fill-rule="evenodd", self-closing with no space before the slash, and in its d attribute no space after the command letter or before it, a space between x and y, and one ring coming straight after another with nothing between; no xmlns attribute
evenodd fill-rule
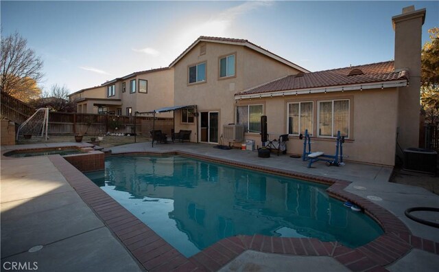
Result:
<svg viewBox="0 0 439 272"><path fill-rule="evenodd" d="M2 158L0 186L1 271L142 271L48 157Z"/></svg>

